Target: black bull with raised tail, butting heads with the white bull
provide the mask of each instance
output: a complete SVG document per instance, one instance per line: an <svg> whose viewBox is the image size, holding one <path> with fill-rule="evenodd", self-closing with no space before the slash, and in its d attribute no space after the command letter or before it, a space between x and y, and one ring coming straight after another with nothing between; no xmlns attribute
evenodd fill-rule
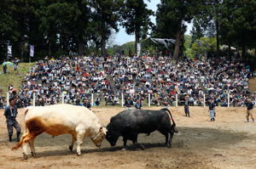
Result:
<svg viewBox="0 0 256 169"><path fill-rule="evenodd" d="M159 131L166 136L167 147L171 147L174 132L177 132L176 124L173 121L172 113L168 109L161 110L124 110L118 115L114 115L108 124L107 140L114 146L119 138L123 137L124 149L127 140L143 148L142 144L137 144L137 135Z"/></svg>

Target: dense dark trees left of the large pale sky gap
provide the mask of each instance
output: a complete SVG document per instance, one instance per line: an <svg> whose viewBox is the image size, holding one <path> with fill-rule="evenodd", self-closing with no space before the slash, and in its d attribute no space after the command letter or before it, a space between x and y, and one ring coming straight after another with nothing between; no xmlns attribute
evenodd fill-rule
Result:
<svg viewBox="0 0 256 169"><path fill-rule="evenodd" d="M6 54L8 43L13 45L13 55L25 59L26 44L35 45L36 57L69 51L84 54L90 42L105 48L111 30L118 31L119 4L115 0L3 0L0 54Z"/></svg>

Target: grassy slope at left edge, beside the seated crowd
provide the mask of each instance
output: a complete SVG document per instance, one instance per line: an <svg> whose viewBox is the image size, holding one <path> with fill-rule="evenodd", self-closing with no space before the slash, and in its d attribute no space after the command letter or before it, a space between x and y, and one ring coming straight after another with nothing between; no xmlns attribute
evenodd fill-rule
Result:
<svg viewBox="0 0 256 169"><path fill-rule="evenodd" d="M6 97L10 84L19 91L21 82L32 65L34 63L20 63L17 71L12 65L8 65L7 74L3 74L3 65L0 65L0 96Z"/></svg>

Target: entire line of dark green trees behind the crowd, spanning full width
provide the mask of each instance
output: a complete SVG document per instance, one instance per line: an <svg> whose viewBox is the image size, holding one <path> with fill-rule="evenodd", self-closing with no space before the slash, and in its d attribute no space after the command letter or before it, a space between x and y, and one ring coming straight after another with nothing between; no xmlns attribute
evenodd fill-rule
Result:
<svg viewBox="0 0 256 169"><path fill-rule="evenodd" d="M217 51L218 42L237 48L242 51L242 56L248 55L247 51L255 51L255 0L161 0L155 14L156 25L149 19L153 11L147 8L145 2L146 0L2 0L0 59L5 58L8 44L13 46L13 55L25 61L29 58L28 44L35 45L34 59L46 54L68 54L69 51L106 54L106 42L111 38L112 31L118 31L118 25L124 26L128 34L136 35L135 44L146 39L148 30L153 27L151 37L177 40L169 48L172 53L176 51L176 55L193 57L194 54L201 54L201 48L195 49L195 41L201 40L201 37L216 37L219 40L216 42ZM184 36L185 22L192 21L189 44ZM150 40L142 43L143 52L154 54L166 50ZM108 48L108 53L119 53L122 50L125 54L129 54L130 50L130 53L134 53L136 46L132 45L116 45ZM203 49L208 50L210 49ZM214 52L215 48L211 51ZM250 55L256 57L255 52L250 52Z"/></svg>

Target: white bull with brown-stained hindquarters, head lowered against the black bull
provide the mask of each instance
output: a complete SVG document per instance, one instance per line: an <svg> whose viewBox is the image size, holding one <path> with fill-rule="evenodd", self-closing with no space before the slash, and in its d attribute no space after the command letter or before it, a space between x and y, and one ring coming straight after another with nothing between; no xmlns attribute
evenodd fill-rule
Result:
<svg viewBox="0 0 256 169"><path fill-rule="evenodd" d="M29 107L25 110L26 132L20 138L20 142L12 149L23 148L23 157L27 159L27 144L29 144L32 156L35 156L34 139L42 132L52 136L71 134L72 140L69 149L73 150L73 144L77 141L77 155L81 155L81 144L84 137L90 137L91 141L100 147L106 136L107 129L102 127L96 115L85 107L70 104L55 104L44 107Z"/></svg>

